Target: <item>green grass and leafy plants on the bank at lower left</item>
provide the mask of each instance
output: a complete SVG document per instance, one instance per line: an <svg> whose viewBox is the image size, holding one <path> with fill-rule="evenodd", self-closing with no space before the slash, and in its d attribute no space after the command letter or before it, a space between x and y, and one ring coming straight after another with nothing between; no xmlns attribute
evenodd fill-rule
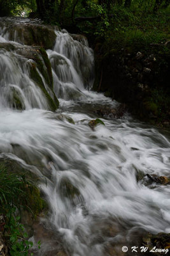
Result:
<svg viewBox="0 0 170 256"><path fill-rule="evenodd" d="M1 232L11 256L31 255L29 249L33 244L22 225L22 213L27 211L35 219L45 207L39 189L31 180L0 166L0 215L4 219Z"/></svg>

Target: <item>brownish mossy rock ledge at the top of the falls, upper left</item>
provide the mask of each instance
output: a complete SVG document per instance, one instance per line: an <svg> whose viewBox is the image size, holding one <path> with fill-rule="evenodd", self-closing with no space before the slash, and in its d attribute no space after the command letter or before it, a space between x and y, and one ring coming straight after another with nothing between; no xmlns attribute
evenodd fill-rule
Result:
<svg viewBox="0 0 170 256"><path fill-rule="evenodd" d="M37 21L38 22L38 21ZM34 23L23 19L22 24L18 20L13 22L0 19L0 28L3 37L20 44L41 46L44 49L52 49L55 44L55 31L52 26Z"/></svg>

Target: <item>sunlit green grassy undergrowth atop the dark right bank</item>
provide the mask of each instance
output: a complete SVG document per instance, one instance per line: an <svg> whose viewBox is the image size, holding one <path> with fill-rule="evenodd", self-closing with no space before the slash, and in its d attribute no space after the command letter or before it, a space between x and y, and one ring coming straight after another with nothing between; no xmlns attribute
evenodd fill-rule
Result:
<svg viewBox="0 0 170 256"><path fill-rule="evenodd" d="M98 23L96 39L101 39L105 53L121 51L124 47L129 52L141 49L148 51L150 44L164 45L170 40L169 14L169 10L153 13L115 6L107 28L100 29L104 25Z"/></svg>

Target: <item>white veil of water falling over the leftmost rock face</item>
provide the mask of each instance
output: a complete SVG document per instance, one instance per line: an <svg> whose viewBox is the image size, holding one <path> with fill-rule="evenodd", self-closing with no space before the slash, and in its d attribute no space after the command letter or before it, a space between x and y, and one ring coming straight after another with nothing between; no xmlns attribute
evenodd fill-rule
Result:
<svg viewBox="0 0 170 256"><path fill-rule="evenodd" d="M48 109L42 90L30 77L31 65L34 61L17 52L0 49L0 101L5 108Z"/></svg>

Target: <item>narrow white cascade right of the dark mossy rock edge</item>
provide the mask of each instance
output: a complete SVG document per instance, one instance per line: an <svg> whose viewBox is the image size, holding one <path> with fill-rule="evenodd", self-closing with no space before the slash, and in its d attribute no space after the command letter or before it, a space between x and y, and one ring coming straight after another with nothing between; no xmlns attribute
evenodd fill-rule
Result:
<svg viewBox="0 0 170 256"><path fill-rule="evenodd" d="M53 69L55 93L65 100L79 99L83 97L80 91L89 90L94 82L93 51L84 36L76 38L65 29L55 33L53 51L47 51Z"/></svg>

